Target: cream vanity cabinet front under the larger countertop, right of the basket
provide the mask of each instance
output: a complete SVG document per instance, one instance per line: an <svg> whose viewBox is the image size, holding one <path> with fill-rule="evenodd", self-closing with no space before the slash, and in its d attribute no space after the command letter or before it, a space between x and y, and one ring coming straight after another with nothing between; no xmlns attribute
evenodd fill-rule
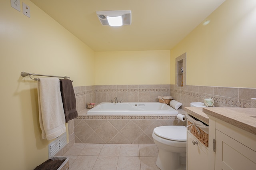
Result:
<svg viewBox="0 0 256 170"><path fill-rule="evenodd" d="M256 135L214 117L209 118L210 169L256 170Z"/></svg>

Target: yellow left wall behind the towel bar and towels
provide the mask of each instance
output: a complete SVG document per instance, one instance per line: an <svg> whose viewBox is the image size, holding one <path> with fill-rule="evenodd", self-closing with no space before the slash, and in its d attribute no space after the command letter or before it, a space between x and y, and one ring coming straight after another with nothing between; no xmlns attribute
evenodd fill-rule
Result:
<svg viewBox="0 0 256 170"><path fill-rule="evenodd" d="M95 85L94 51L29 0L31 18L0 2L0 169L32 170L48 159L38 121L36 81L22 71L67 75ZM90 72L84 76L84 73Z"/></svg>

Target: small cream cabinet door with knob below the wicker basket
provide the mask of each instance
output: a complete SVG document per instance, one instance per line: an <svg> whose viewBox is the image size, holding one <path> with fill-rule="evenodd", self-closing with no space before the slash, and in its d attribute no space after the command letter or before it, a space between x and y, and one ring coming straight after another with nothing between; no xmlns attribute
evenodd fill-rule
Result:
<svg viewBox="0 0 256 170"><path fill-rule="evenodd" d="M207 169L208 149L190 132L187 132L187 170Z"/></svg>

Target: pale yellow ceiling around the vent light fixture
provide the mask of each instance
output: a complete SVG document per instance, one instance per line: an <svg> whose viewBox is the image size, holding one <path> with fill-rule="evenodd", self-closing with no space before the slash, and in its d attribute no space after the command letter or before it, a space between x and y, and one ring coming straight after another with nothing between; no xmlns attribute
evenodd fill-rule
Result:
<svg viewBox="0 0 256 170"><path fill-rule="evenodd" d="M94 51L170 50L225 0L30 0ZM131 10L129 26L96 11Z"/></svg>

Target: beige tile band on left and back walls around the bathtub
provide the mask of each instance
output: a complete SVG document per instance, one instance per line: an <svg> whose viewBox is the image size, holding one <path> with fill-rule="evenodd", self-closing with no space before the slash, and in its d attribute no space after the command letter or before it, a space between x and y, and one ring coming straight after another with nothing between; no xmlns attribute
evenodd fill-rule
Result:
<svg viewBox="0 0 256 170"><path fill-rule="evenodd" d="M74 87L76 110L86 109L86 103L118 102L156 102L157 97L170 95L170 85L96 85Z"/></svg>

